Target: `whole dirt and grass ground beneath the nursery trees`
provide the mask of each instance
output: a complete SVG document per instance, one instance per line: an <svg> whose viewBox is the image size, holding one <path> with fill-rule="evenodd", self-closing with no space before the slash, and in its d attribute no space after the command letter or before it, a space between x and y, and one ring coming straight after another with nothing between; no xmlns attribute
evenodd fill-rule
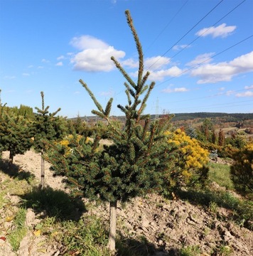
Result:
<svg viewBox="0 0 253 256"><path fill-rule="evenodd" d="M4 152L4 158L8 156ZM40 156L1 161L0 255L109 255L107 205L73 199ZM210 163L209 186L119 205L117 255L251 255L252 202L232 191L227 164Z"/></svg>

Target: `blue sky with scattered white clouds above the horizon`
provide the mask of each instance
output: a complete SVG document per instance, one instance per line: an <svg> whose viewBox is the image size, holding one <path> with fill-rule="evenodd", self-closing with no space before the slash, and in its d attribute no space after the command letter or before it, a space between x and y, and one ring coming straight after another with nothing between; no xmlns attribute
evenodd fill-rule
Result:
<svg viewBox="0 0 253 256"><path fill-rule="evenodd" d="M51 112L88 116L82 79L121 115L125 80L110 57L135 81L138 64L126 9L156 82L146 114L253 112L252 0L0 0L2 102L41 107L43 91Z"/></svg>

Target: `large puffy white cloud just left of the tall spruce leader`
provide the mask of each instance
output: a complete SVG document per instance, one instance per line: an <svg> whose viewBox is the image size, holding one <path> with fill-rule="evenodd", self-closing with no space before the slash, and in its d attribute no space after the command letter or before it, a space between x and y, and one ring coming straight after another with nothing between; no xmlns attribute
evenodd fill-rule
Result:
<svg viewBox="0 0 253 256"><path fill-rule="evenodd" d="M92 36L80 36L72 38L70 44L81 50L73 55L71 63L75 70L87 72L110 71L114 68L111 56L117 60L124 58L124 51L116 50L113 46L107 45L103 41Z"/></svg>

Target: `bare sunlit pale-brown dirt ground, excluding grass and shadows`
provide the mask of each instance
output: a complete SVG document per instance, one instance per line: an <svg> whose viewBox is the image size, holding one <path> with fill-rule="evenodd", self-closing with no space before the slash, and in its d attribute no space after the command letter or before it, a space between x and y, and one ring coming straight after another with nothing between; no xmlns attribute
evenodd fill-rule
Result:
<svg viewBox="0 0 253 256"><path fill-rule="evenodd" d="M4 152L3 158L8 158ZM40 181L41 156L34 151L14 157L14 164L22 171L29 171ZM65 189L62 178L53 176L49 171L50 164L45 164L45 183L57 189ZM0 181L4 182L6 174L0 171ZM17 207L20 198L9 193L9 209ZM122 237L137 238L144 236L154 247L154 255L178 255L179 248L198 246L199 255L253 255L252 231L236 225L226 217L230 210L219 208L216 214L211 214L204 208L193 206L180 199L169 201L161 196L148 195L146 198L135 198L126 205L118 206L118 233ZM83 213L85 214L91 214ZM92 214L108 219L107 206L97 206ZM217 216L220 218L217 218ZM8 212L0 209L0 237L6 235L5 230L12 228L12 223L6 222ZM21 241L17 252L11 250L7 240L0 239L0 256L58 256L61 255L60 245L57 242L48 242L45 235L35 234L34 226L40 218L32 209L27 210L26 225L28 233ZM222 248L223 253L217 248ZM225 254L225 252L230 252ZM147 254L148 255L148 254Z"/></svg>

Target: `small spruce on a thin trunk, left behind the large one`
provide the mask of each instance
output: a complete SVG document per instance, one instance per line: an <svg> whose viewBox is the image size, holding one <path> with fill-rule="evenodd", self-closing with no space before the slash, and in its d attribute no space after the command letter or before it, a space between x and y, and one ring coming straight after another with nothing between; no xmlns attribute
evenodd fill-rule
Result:
<svg viewBox="0 0 253 256"><path fill-rule="evenodd" d="M44 106L44 93L41 92L42 108L35 107L35 121L33 126L34 148L41 153L41 188L45 186L45 160L43 154L47 142L61 139L64 136L63 118L55 117L60 108L53 113L48 111L49 106Z"/></svg>

